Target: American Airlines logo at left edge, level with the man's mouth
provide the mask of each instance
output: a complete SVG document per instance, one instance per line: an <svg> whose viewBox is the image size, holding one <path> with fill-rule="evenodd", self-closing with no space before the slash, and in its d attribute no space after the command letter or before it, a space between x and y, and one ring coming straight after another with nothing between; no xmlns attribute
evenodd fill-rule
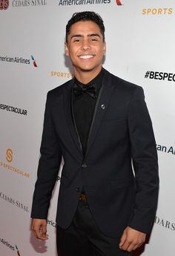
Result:
<svg viewBox="0 0 175 256"><path fill-rule="evenodd" d="M32 65L36 68L38 67L36 65L36 60L34 59L33 55L31 55L31 59L32 59ZM0 56L0 61L1 62L10 62L13 64L24 64L24 65L30 65L31 64L31 59L27 59L24 57L19 57L19 56Z"/></svg>

